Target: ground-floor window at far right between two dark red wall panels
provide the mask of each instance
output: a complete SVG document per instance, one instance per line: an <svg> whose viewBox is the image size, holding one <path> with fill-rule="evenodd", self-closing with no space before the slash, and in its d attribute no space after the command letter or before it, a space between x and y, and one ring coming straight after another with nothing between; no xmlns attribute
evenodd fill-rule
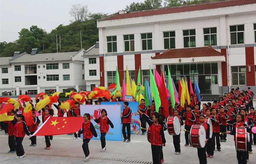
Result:
<svg viewBox="0 0 256 164"><path fill-rule="evenodd" d="M232 85L246 85L245 82L245 66L231 67Z"/></svg>

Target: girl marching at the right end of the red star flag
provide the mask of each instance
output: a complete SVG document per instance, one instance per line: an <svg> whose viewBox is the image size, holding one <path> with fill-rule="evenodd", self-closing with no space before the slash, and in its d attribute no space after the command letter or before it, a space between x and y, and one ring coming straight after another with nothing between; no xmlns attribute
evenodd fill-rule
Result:
<svg viewBox="0 0 256 164"><path fill-rule="evenodd" d="M78 132L76 132L76 134L83 134L84 138L83 138L82 148L83 148L85 156L86 156L85 161L88 161L88 160L90 160L90 156L91 156L88 144L91 141L91 138L93 136L96 137L97 139L99 139L99 137L96 133L96 130L95 130L92 122L91 122L91 117L90 117L89 113L84 114L84 120L85 120L85 122L82 125L82 130L79 130Z"/></svg>

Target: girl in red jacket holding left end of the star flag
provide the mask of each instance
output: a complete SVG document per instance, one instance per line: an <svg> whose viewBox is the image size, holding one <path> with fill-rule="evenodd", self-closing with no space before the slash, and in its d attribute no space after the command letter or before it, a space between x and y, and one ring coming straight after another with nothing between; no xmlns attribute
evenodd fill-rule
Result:
<svg viewBox="0 0 256 164"><path fill-rule="evenodd" d="M17 122L14 125L15 127L15 140L16 140L16 158L23 158L25 156L25 151L22 146L22 141L23 138L25 137L25 133L29 136L32 137L30 132L27 129L26 123L23 121L24 116L21 114L18 114L17 116Z"/></svg>

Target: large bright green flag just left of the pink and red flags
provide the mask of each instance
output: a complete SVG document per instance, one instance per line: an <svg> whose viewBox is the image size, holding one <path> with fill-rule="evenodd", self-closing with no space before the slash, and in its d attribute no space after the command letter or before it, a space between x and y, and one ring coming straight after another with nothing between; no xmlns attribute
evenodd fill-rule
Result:
<svg viewBox="0 0 256 164"><path fill-rule="evenodd" d="M159 112L159 107L161 106L161 100L159 97L159 92L157 89L157 84L155 81L155 78L153 76L151 68L149 69L150 71L150 88L151 92L153 92L154 100L155 100L155 105L156 105L156 111Z"/></svg>

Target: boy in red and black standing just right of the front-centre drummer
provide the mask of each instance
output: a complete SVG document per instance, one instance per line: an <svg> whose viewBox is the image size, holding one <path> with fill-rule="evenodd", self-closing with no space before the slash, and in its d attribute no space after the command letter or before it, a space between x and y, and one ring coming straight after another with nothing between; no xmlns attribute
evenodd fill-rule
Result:
<svg viewBox="0 0 256 164"><path fill-rule="evenodd" d="M217 145L217 150L221 151L220 149L220 125L221 125L221 119L220 116L218 116L216 114L216 109L215 108L211 108L211 113L212 116L215 117L216 121L212 124L212 129L214 131L214 135L213 135L213 147L215 149L215 138L216 138L216 145Z"/></svg>

